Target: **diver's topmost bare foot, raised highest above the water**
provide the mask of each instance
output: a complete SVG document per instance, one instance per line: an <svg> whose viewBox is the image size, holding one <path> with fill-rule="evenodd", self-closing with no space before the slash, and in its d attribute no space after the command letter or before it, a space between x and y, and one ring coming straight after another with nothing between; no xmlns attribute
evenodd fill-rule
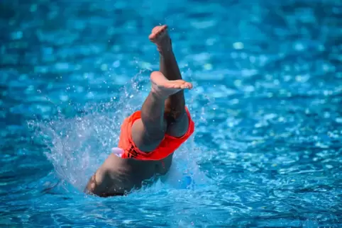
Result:
<svg viewBox="0 0 342 228"><path fill-rule="evenodd" d="M172 49L170 35L167 33L167 25L155 26L148 39L157 45L159 51L170 51Z"/></svg>

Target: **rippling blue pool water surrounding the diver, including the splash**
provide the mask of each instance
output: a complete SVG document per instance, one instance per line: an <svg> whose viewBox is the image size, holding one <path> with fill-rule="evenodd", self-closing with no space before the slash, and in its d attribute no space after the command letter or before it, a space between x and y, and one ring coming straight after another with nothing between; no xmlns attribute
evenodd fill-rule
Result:
<svg viewBox="0 0 342 228"><path fill-rule="evenodd" d="M342 4L0 1L0 226L341 227ZM170 25L196 122L166 180L82 193Z"/></svg>

